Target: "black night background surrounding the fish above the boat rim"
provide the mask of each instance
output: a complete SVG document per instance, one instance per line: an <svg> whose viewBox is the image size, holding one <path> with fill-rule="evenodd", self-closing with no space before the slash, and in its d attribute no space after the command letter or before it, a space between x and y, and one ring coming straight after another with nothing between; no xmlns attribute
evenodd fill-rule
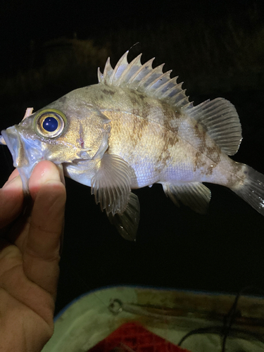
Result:
<svg viewBox="0 0 264 352"><path fill-rule="evenodd" d="M127 49L180 75L195 104L223 96L241 118L234 160L264 173L263 1L2 1L0 130L77 87ZM0 147L1 184L12 170ZM136 243L108 223L87 187L67 180L56 312L114 284L237 292L264 289L264 218L229 189L210 184L206 215L176 208L160 185L139 189ZM258 288L257 288L258 287Z"/></svg>

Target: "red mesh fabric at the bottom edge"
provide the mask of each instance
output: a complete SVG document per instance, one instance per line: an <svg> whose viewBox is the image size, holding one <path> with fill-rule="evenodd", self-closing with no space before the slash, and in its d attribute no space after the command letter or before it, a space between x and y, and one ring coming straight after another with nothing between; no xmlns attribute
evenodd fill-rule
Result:
<svg viewBox="0 0 264 352"><path fill-rule="evenodd" d="M190 352L171 344L136 322L127 322L89 352Z"/></svg>

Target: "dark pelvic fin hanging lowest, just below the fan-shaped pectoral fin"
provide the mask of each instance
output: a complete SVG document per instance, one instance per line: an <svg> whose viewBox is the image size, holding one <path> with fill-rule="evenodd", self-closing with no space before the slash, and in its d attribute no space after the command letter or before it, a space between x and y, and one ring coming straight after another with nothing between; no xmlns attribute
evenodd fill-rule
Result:
<svg viewBox="0 0 264 352"><path fill-rule="evenodd" d="M114 216L110 213L108 217L124 239L136 240L137 227L139 226L139 200L134 193L130 192L124 213Z"/></svg>

